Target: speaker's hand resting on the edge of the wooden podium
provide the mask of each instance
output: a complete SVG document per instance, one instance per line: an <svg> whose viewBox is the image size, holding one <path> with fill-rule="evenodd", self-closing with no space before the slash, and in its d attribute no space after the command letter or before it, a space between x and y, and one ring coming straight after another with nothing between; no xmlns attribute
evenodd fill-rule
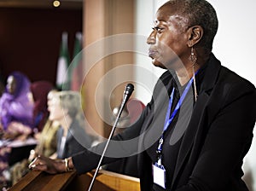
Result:
<svg viewBox="0 0 256 191"><path fill-rule="evenodd" d="M33 171L46 171L49 174L57 174L66 171L65 160L49 159L42 155L38 155L28 167Z"/></svg>

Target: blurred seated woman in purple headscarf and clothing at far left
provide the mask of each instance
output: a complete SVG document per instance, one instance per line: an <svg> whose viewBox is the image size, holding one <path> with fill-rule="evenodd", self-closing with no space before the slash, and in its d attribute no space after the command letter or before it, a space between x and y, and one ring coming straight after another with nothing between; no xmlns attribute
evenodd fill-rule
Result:
<svg viewBox="0 0 256 191"><path fill-rule="evenodd" d="M29 100L30 80L21 72L12 72L0 99L0 126L4 138L26 138L32 133L33 103Z"/></svg>

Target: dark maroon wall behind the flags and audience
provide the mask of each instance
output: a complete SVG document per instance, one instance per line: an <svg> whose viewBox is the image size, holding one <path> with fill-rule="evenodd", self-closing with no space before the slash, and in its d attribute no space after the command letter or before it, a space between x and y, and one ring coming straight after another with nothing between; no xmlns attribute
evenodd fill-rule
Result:
<svg viewBox="0 0 256 191"><path fill-rule="evenodd" d="M82 32L82 9L0 8L0 72L24 72L30 80L55 84L62 32L73 56L76 32Z"/></svg>

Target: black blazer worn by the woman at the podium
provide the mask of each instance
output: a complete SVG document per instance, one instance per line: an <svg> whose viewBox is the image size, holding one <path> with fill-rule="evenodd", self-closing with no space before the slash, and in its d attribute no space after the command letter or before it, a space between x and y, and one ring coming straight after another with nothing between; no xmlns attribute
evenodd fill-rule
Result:
<svg viewBox="0 0 256 191"><path fill-rule="evenodd" d="M153 99L143 110L141 118L122 134L113 137L119 142L109 144L102 162L114 161L117 156L113 155L116 153L138 153L143 191L152 189L152 161L145 150L160 136L168 106L166 90L170 89L168 84L171 80L170 72L160 77L154 88ZM222 67L211 55L198 99L192 107L192 110L184 109L184 113L191 111L191 117L187 119L181 115L181 123L177 125L184 129L177 131L173 137L174 142L179 136L183 136L183 140L173 169L172 191L248 190L241 180L241 165L253 139L256 119L256 91L253 84ZM147 136L153 134L157 136ZM127 144L124 140L132 142ZM73 156L73 164L79 173L96 167L103 145Z"/></svg>

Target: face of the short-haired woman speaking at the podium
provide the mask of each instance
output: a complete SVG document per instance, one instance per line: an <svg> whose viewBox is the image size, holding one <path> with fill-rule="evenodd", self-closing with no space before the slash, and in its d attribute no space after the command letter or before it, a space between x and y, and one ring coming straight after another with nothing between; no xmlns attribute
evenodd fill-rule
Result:
<svg viewBox="0 0 256 191"><path fill-rule="evenodd" d="M157 11L153 32L147 41L150 45L148 56L154 66L169 69L175 67L174 63L188 58L187 23L186 18L170 5Z"/></svg>

